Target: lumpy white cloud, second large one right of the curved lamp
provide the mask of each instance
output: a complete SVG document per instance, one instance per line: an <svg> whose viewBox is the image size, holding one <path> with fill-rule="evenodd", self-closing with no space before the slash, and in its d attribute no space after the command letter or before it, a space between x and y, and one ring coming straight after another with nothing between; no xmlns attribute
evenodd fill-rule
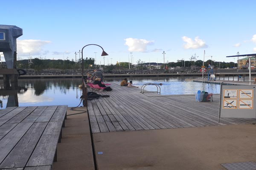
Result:
<svg viewBox="0 0 256 170"><path fill-rule="evenodd" d="M199 39L199 37L195 37L195 41L193 41L191 38L183 36L182 40L186 42L185 49L207 48L204 40Z"/></svg>

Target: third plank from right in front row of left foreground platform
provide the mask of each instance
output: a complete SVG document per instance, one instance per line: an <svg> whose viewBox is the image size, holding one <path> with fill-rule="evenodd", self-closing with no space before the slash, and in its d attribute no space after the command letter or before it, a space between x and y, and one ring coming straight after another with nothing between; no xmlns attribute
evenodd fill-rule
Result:
<svg viewBox="0 0 256 170"><path fill-rule="evenodd" d="M19 123L0 140L0 162L2 162L33 123Z"/></svg>

